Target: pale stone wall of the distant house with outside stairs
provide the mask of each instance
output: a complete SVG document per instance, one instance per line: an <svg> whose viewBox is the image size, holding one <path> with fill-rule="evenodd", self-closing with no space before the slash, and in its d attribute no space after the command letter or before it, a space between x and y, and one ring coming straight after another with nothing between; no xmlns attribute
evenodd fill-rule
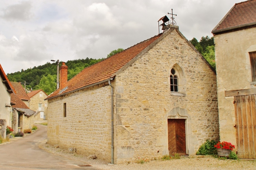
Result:
<svg viewBox="0 0 256 170"><path fill-rule="evenodd" d="M42 97L40 97L40 93L42 93ZM47 119L48 101L44 100L46 97L47 97L47 95L41 91L39 93L35 94L34 96L32 96L30 98L29 109L36 111L39 108L39 103L42 103L42 109L44 109L44 115L45 115L45 118ZM46 107L45 107L45 103L47 104ZM42 118L40 118L40 112L34 117L34 121L35 120L42 120Z"/></svg>

